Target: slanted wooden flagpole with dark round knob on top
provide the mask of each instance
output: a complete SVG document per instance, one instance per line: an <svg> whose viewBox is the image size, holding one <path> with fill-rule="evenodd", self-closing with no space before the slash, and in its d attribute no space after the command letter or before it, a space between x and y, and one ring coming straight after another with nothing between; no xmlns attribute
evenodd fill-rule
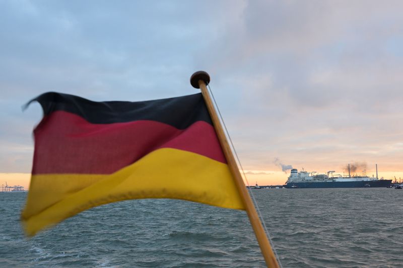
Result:
<svg viewBox="0 0 403 268"><path fill-rule="evenodd" d="M248 191L246 190L246 186L243 183L241 173L239 172L238 165L235 161L234 155L232 154L227 136L225 135L223 127L220 123L220 119L217 116L216 109L214 108L213 102L210 98L209 91L207 90L207 84L209 84L209 82L210 75L205 71L197 71L193 73L190 77L190 84L195 88L200 88L201 94L203 94L203 98L205 99L207 108L212 118L218 139L220 140L225 158L228 161L228 166L231 170L232 176L234 177L235 185L245 205L246 213L248 214L250 224L252 225L253 231L255 232L256 239L259 243L260 250L262 252L266 265L267 267L271 268L280 267L279 263L277 262L277 258L273 252L272 246L267 239L266 233L264 232L263 226L256 213L255 207L253 206L253 202L249 196Z"/></svg>

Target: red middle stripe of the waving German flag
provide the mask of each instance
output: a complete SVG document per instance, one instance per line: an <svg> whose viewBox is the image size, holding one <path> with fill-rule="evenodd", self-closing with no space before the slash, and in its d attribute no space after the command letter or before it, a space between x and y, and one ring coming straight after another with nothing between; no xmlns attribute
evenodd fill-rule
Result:
<svg viewBox="0 0 403 268"><path fill-rule="evenodd" d="M33 174L109 174L159 148L186 150L226 163L213 126L204 121L179 130L156 121L92 124L76 114L56 111L43 118L34 134Z"/></svg>

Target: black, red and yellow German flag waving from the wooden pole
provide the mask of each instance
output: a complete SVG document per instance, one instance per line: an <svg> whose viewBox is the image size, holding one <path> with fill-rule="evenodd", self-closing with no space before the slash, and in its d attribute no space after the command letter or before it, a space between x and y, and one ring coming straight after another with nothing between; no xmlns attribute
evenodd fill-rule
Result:
<svg viewBox="0 0 403 268"><path fill-rule="evenodd" d="M28 235L86 209L174 198L245 209L201 94L93 102L45 93L34 129ZM30 103L31 103L30 102Z"/></svg>

